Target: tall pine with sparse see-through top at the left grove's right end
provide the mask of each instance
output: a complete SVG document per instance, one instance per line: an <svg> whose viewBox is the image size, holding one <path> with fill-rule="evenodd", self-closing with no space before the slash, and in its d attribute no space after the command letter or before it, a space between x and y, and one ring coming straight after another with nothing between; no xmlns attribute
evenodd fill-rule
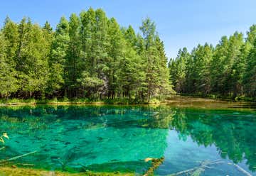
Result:
<svg viewBox="0 0 256 176"><path fill-rule="evenodd" d="M164 54L164 45L159 41L156 35L156 26L149 18L142 21L140 27L144 36L144 48L141 52L144 59L144 66L146 72L146 99L149 101L152 97L158 97L161 90L169 84L169 79L166 79L167 60ZM165 65L163 65L165 63ZM162 84L161 78L166 80L166 84ZM168 88L170 90L170 88Z"/></svg>

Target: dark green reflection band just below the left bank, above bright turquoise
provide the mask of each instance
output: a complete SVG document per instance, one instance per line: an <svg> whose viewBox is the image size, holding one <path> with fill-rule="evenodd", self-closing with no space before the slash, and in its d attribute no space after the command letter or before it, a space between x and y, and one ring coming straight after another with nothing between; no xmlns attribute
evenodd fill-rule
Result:
<svg viewBox="0 0 256 176"><path fill-rule="evenodd" d="M13 127L18 123L28 123L35 129L70 119L86 120L81 128L169 128L174 114L174 111L157 106L21 106L1 107L0 121Z"/></svg>

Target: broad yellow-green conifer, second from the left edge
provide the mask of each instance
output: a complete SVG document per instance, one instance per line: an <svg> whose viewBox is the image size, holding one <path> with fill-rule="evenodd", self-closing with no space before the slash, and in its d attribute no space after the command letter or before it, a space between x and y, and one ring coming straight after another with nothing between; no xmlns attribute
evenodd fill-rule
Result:
<svg viewBox="0 0 256 176"><path fill-rule="evenodd" d="M16 71L21 94L25 97L44 94L48 80L48 51L43 31L31 19L23 18L18 26L18 48L16 50Z"/></svg>

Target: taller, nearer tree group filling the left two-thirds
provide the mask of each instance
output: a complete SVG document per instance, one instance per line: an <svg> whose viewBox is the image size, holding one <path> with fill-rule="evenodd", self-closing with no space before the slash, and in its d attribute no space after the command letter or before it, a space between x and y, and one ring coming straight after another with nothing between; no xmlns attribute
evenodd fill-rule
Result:
<svg viewBox="0 0 256 176"><path fill-rule="evenodd" d="M127 98L149 101L169 94L164 44L146 18L136 34L102 9L89 9L55 31L23 18L6 18L0 31L2 98Z"/></svg>

